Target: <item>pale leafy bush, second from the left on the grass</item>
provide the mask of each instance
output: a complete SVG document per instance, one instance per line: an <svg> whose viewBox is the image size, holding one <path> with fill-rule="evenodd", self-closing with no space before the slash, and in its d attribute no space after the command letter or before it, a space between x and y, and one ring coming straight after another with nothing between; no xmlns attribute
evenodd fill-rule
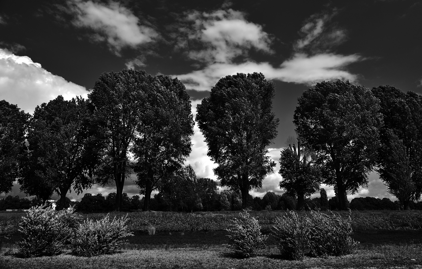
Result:
<svg viewBox="0 0 422 269"><path fill-rule="evenodd" d="M92 257L115 253L125 244L124 237L133 236L127 229L127 221L127 215L111 219L108 214L100 220L85 220L72 239L73 254Z"/></svg>

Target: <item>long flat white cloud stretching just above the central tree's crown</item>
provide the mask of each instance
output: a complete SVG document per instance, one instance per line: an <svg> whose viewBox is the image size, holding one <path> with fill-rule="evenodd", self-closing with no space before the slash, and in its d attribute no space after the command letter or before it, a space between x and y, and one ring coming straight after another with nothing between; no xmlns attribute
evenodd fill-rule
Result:
<svg viewBox="0 0 422 269"><path fill-rule="evenodd" d="M178 77L189 90L210 91L216 82L227 75L236 73L261 72L266 79L276 79L284 82L315 84L322 80L349 79L357 80L357 76L344 70L353 62L362 58L357 54L317 54L309 56L297 53L289 60L284 61L279 67L273 67L268 62L247 61L235 63L213 63L202 70L192 71L188 74L173 75Z"/></svg>

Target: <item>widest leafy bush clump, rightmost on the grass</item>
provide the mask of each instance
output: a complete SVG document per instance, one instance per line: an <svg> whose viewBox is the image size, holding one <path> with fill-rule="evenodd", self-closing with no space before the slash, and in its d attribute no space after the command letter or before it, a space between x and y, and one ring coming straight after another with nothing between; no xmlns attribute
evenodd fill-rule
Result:
<svg viewBox="0 0 422 269"><path fill-rule="evenodd" d="M352 219L338 214L326 215L311 211L299 216L288 212L276 219L273 236L279 241L279 250L291 259L308 256L345 255L357 245L353 241Z"/></svg>

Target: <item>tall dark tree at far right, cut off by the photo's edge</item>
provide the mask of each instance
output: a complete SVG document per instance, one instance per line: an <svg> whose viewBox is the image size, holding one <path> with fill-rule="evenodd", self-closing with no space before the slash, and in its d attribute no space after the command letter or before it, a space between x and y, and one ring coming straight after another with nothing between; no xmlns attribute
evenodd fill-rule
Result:
<svg viewBox="0 0 422 269"><path fill-rule="evenodd" d="M372 88L379 98L384 126L380 131L378 172L401 207L422 193L422 97L386 85Z"/></svg>

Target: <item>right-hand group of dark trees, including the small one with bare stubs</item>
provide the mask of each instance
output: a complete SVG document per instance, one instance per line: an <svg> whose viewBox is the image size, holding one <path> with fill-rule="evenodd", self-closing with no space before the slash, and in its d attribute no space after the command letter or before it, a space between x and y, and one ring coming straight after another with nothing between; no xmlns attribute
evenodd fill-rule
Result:
<svg viewBox="0 0 422 269"><path fill-rule="evenodd" d="M420 198L422 96L388 85L320 82L298 98L293 122L298 139L286 142L279 173L298 209L321 183L334 186L338 208L346 209L346 195L368 187L373 170L402 208Z"/></svg>

